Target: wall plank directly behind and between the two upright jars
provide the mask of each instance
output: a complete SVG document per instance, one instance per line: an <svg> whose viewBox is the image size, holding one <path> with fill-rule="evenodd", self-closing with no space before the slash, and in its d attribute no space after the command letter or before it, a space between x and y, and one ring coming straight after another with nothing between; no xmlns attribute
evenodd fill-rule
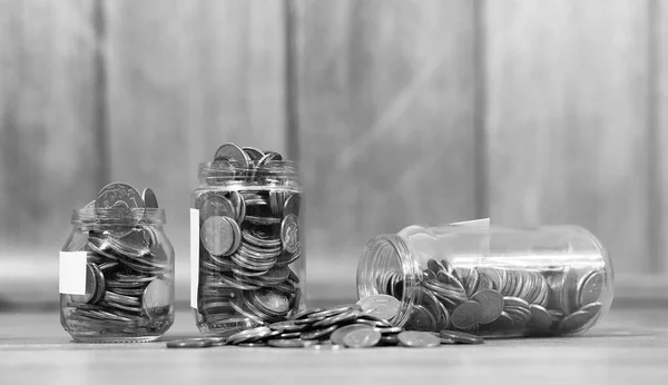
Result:
<svg viewBox="0 0 668 385"><path fill-rule="evenodd" d="M225 141L286 148L283 3L104 4L111 178L155 189L187 260L198 162Z"/></svg>

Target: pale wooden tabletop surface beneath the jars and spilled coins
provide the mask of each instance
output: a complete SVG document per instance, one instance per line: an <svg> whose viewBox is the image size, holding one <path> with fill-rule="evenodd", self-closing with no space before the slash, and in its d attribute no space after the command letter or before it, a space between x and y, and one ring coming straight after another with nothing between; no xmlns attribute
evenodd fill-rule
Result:
<svg viewBox="0 0 668 385"><path fill-rule="evenodd" d="M165 336L197 334L184 310ZM667 384L668 308L613 308L582 337L433 349L167 349L69 342L57 314L0 314L0 384Z"/></svg>

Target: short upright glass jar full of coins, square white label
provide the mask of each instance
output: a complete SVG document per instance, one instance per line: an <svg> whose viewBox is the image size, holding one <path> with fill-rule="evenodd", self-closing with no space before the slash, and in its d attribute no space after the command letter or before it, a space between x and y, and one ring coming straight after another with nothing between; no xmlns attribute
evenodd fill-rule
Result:
<svg viewBox="0 0 668 385"><path fill-rule="evenodd" d="M174 248L155 194L102 188L60 251L60 323L76 342L148 342L174 323Z"/></svg>

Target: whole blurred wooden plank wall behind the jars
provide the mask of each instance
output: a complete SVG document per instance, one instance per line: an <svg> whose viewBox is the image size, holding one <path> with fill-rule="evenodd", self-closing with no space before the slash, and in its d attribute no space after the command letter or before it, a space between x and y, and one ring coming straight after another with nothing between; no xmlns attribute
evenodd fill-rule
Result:
<svg viewBox="0 0 668 385"><path fill-rule="evenodd" d="M114 180L156 190L187 290L225 141L301 161L316 296L354 294L376 234L483 216L586 226L618 294L660 295L667 110L658 0L0 0L0 297L56 297Z"/></svg>

